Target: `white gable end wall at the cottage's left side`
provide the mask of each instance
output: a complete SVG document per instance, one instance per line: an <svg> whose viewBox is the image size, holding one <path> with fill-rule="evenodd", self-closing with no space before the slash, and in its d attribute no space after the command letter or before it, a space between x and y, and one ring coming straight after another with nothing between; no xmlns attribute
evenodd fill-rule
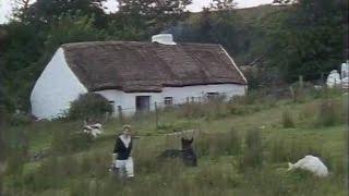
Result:
<svg viewBox="0 0 349 196"><path fill-rule="evenodd" d="M53 119L69 109L71 101L87 93L68 66L64 51L59 48L37 79L31 95L32 113L38 119Z"/></svg>

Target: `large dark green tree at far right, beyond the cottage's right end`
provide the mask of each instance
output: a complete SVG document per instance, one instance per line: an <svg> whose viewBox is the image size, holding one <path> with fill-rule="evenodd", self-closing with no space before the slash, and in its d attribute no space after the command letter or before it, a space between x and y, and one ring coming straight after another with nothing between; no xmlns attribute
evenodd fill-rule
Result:
<svg viewBox="0 0 349 196"><path fill-rule="evenodd" d="M303 75L316 79L336 69L342 58L346 33L340 0L299 0L279 14L279 24L268 29L266 56L289 81Z"/></svg>

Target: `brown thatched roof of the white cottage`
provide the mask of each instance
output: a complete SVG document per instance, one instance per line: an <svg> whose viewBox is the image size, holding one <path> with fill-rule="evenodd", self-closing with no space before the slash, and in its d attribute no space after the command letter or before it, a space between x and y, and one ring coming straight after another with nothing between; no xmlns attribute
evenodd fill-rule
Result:
<svg viewBox="0 0 349 196"><path fill-rule="evenodd" d="M91 91L246 84L219 45L97 41L65 44L62 48L69 66Z"/></svg>

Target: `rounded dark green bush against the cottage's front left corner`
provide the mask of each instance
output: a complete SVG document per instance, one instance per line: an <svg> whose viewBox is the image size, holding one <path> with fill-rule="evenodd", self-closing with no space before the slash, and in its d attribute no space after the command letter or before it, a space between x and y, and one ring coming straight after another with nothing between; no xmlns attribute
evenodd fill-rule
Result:
<svg viewBox="0 0 349 196"><path fill-rule="evenodd" d="M113 108L109 101L98 94L81 95L75 101L71 103L68 111L69 119L87 119L101 118L106 113L112 113Z"/></svg>

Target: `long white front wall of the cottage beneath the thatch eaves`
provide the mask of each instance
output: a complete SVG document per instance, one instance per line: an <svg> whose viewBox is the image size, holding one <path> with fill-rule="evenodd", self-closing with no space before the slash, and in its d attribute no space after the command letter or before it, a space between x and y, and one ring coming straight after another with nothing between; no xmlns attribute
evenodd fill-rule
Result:
<svg viewBox="0 0 349 196"><path fill-rule="evenodd" d="M121 106L123 113L133 114L135 112L135 97L151 96L151 110L154 110L154 102L164 103L165 97L172 97L173 103L183 103L186 97L203 97L207 93L225 94L227 98L244 95L245 85L219 84L219 85L197 85L184 87L165 87L161 93L124 93L121 90L100 90L95 91L104 96L109 101L113 101L115 111Z"/></svg>

